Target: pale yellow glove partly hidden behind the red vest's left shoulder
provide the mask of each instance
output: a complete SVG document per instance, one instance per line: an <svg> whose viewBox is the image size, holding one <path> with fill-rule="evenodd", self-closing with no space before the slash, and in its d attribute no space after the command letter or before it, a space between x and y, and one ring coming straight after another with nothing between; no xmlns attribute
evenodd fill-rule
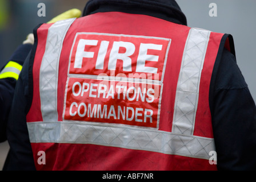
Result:
<svg viewBox="0 0 256 182"><path fill-rule="evenodd" d="M67 10L64 13L59 14L58 16L55 16L53 19L51 19L47 23L55 23L55 22L58 22L59 20L69 19L69 18L79 18L81 14L82 12L78 9ZM34 44L34 35L33 34L27 35L27 39L23 42L23 44Z"/></svg>

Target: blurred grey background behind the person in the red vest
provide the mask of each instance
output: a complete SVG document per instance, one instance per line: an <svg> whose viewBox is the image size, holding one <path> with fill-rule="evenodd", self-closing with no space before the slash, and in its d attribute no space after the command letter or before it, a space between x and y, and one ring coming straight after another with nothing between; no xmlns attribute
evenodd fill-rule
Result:
<svg viewBox="0 0 256 182"><path fill-rule="evenodd" d="M168 1L168 0L166 0ZM233 35L237 64L256 101L256 1L255 0L176 0L187 16L188 26ZM63 11L77 8L81 11L86 0L0 0L0 67L27 34L39 23L45 23ZM45 3L46 16L38 16L38 3ZM212 11L215 3L217 11ZM210 12L210 14L209 14ZM217 16L211 16L217 13ZM0 143L0 169L3 167L9 145Z"/></svg>

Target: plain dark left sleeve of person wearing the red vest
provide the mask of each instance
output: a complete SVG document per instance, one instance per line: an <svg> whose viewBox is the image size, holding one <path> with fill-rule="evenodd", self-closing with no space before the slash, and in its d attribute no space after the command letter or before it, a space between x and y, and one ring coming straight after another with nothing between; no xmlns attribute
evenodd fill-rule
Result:
<svg viewBox="0 0 256 182"><path fill-rule="evenodd" d="M7 122L7 140L10 151L7 155L3 171L6 170L35 170L33 153L26 125L29 95L29 56L23 65L14 92L9 120Z"/></svg>

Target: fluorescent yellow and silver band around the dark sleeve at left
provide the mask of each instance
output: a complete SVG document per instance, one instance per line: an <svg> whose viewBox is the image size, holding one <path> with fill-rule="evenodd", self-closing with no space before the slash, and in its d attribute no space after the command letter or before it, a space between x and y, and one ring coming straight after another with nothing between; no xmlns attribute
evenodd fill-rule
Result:
<svg viewBox="0 0 256 182"><path fill-rule="evenodd" d="M21 69L22 65L14 61L9 61L9 63L6 64L5 68L3 68L0 72L0 78L15 78L15 80L18 80Z"/></svg>

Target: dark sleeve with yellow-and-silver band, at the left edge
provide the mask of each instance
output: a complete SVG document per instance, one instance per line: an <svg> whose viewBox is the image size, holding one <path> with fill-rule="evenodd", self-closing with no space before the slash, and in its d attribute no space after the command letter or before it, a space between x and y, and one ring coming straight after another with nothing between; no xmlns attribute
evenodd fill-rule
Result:
<svg viewBox="0 0 256 182"><path fill-rule="evenodd" d="M31 44L19 46L0 71L0 142L6 140L6 123L13 101L15 85L31 48Z"/></svg>

